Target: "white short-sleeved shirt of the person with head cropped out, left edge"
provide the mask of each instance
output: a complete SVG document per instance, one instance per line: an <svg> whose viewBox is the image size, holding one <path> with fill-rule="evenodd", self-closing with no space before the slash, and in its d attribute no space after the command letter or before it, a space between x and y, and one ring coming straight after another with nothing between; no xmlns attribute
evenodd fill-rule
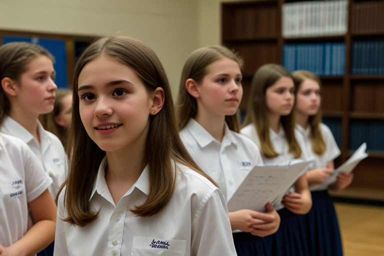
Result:
<svg viewBox="0 0 384 256"><path fill-rule="evenodd" d="M21 139L0 133L0 244L9 246L27 231L28 205L52 180Z"/></svg>

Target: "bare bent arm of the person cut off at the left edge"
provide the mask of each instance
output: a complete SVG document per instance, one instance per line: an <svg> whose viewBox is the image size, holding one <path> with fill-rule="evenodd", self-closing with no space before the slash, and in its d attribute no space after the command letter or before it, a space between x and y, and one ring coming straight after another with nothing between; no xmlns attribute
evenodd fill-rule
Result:
<svg viewBox="0 0 384 256"><path fill-rule="evenodd" d="M1 256L34 255L54 240L56 226L56 204L48 189L28 203L33 214L34 225L21 239L8 247L0 247Z"/></svg>

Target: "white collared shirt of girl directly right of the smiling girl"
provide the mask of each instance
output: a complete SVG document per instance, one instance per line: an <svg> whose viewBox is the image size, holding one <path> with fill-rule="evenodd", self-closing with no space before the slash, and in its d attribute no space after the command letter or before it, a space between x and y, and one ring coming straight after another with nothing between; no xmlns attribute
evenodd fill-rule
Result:
<svg viewBox="0 0 384 256"><path fill-rule="evenodd" d="M226 123L221 143L193 118L180 130L180 137L195 162L217 182L226 201L252 167L263 164L256 144Z"/></svg>

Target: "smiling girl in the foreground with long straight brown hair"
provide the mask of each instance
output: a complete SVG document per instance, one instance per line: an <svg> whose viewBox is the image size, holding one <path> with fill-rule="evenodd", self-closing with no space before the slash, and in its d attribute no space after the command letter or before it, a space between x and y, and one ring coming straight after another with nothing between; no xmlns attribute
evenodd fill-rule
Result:
<svg viewBox="0 0 384 256"><path fill-rule="evenodd" d="M178 135L146 44L100 37L77 61L55 255L233 255L225 199Z"/></svg>

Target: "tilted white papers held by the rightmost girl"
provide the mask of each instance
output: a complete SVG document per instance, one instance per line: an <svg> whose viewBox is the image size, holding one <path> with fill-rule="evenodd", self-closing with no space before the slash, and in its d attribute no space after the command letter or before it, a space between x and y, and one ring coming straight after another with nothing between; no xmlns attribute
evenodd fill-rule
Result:
<svg viewBox="0 0 384 256"><path fill-rule="evenodd" d="M336 177L338 173L340 172L351 172L354 167L365 157L368 156L368 154L365 152L366 150L366 143L362 143L356 151L352 154L352 156L349 157L348 160L346 160L343 164L341 164L337 169L335 169L332 174L329 175L329 177L321 184L314 184L310 185L311 190L322 190L327 189L330 184L332 184L334 181L336 181Z"/></svg>

